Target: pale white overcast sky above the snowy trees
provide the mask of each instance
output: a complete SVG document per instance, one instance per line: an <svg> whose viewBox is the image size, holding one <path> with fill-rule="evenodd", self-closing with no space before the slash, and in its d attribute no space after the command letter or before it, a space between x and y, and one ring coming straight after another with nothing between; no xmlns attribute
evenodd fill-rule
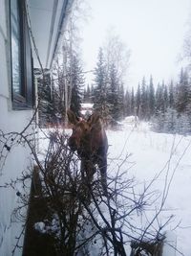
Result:
<svg viewBox="0 0 191 256"><path fill-rule="evenodd" d="M176 79L177 59L188 30L191 0L88 0L89 22L83 27L85 69L95 67L97 51L112 27L132 51L128 86L145 76L154 83Z"/></svg>

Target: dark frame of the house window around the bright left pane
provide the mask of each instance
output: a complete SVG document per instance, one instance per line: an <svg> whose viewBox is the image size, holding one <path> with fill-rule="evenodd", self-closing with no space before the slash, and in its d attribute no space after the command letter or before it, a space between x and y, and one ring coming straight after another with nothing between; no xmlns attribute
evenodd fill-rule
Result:
<svg viewBox="0 0 191 256"><path fill-rule="evenodd" d="M19 15L19 54L20 54L20 83L21 93L16 93L13 89L12 79L12 47L11 47L11 102L12 109L24 110L34 107L34 80L33 80L33 60L32 46L26 16L25 0L17 1ZM10 0L10 38L11 38L11 0ZM12 43L12 39L11 39Z"/></svg>

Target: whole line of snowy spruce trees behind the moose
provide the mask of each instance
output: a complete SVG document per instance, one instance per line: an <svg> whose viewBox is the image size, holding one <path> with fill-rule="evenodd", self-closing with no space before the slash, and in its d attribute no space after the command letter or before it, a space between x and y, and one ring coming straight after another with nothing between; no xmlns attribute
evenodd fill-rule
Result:
<svg viewBox="0 0 191 256"><path fill-rule="evenodd" d="M69 72L71 65L72 71ZM95 79L91 86L85 86L84 71L77 54L73 56L71 65L68 65L67 75L63 68L57 66L58 79L51 82L50 74L47 75L46 86L39 80L42 124L60 124L64 120L67 86L69 107L77 115L80 115L81 103L93 103L105 120L120 121L134 115L139 120L150 122L152 128L159 132L191 131L191 84L186 69L180 70L178 82L166 84L162 81L156 86L151 76L149 82L143 78L137 89L125 90L116 63L106 63L102 48L98 52Z"/></svg>

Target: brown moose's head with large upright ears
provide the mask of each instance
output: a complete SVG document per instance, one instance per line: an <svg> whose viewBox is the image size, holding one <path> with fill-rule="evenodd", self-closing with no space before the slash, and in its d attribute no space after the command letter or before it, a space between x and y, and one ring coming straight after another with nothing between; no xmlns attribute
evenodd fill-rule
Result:
<svg viewBox="0 0 191 256"><path fill-rule="evenodd" d="M86 121L78 118L72 110L67 111L69 122L73 125L73 133L69 138L69 147L72 151L82 156L83 153L91 152L91 139L93 130L98 131L100 126L100 117L94 113Z"/></svg>

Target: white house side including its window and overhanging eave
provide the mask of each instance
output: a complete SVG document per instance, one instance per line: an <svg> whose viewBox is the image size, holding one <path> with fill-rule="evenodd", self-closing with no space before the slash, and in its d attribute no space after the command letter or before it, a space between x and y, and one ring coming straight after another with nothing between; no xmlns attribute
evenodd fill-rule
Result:
<svg viewBox="0 0 191 256"><path fill-rule="evenodd" d="M11 131L21 132L32 119L33 68L40 66L34 50L37 49L42 67L50 70L72 5L73 0L0 0L0 136ZM17 145L11 147L3 161L5 145L1 139L0 147L0 186L3 186L32 167L32 156L26 145ZM16 189L19 192L22 186ZM23 228L21 222L12 218L18 200L15 190L0 188L1 256L11 255L15 237ZM14 255L22 255L21 250L17 248Z"/></svg>

